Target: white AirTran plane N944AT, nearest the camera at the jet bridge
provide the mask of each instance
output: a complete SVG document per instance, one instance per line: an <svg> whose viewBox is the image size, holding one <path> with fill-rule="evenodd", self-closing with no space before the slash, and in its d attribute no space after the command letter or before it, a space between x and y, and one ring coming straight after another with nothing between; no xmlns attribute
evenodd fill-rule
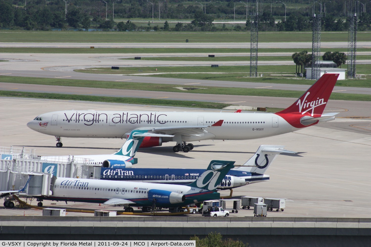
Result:
<svg viewBox="0 0 371 247"><path fill-rule="evenodd" d="M52 179L50 196L35 197L40 201L123 204L125 212L132 212L133 206L143 207L144 212L148 211L151 206L181 207L205 200L219 199L220 194L215 192L216 188L228 171L234 167L233 164L234 161L212 160L207 170L188 185L58 177L55 180ZM27 184L22 190L26 187ZM13 194L20 191L1 193Z"/></svg>

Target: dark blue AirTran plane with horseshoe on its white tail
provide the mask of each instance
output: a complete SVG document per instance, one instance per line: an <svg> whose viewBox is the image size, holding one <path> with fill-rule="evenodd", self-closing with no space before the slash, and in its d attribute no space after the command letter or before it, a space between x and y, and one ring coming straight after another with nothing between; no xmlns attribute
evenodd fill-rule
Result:
<svg viewBox="0 0 371 247"><path fill-rule="evenodd" d="M254 156L238 168L230 170L218 186L220 190L233 189L247 184L268 181L269 175L264 174L277 154L295 154L294 151L283 149L284 146L262 145ZM234 165L235 167L237 165ZM204 169L188 168L125 168L105 163L101 168L101 180L136 181L162 184L189 184L198 179Z"/></svg>

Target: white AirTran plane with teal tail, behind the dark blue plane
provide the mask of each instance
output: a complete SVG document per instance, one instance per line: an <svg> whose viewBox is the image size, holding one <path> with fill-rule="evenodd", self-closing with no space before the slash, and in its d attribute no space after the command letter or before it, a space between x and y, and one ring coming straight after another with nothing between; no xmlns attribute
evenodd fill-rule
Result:
<svg viewBox="0 0 371 247"><path fill-rule="evenodd" d="M91 165L102 167L130 168L138 163L134 158L139 146L145 137L173 137L170 135L148 133L147 130L133 130L128 135L124 145L114 154L68 155L68 156L40 156L40 160L49 162L70 162L72 159L83 161Z"/></svg>

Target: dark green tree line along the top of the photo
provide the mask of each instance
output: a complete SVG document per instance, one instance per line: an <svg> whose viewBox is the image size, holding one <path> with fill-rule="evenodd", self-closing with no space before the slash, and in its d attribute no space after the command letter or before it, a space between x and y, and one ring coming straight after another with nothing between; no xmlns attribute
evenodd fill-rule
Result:
<svg viewBox="0 0 371 247"><path fill-rule="evenodd" d="M2 0L0 2L0 27L26 30L49 30L50 28L66 29L68 27L88 29L95 27L100 29L115 29L119 31L131 30L167 30L167 31L219 31L219 30L250 30L250 14L256 10L256 6L244 6L240 1L221 0L217 2L194 1L151 1L145 0L120 0L108 1L105 4L100 0ZM307 4L306 1L286 1L286 7L292 4ZM322 17L323 31L348 30L349 21L345 19L344 8L346 1L335 0L327 3L326 14ZM201 5L203 6L201 9ZM310 31L312 29L311 6L285 8L276 1L260 6L259 30L260 31ZM107 7L107 9L106 9ZM193 19L191 23L180 21L175 27L168 27L168 23L144 26L136 26L131 23L132 18L151 18L152 7L154 18L167 19ZM318 7L318 6L317 6ZM259 9L259 6L258 6ZM371 8L370 8L371 9ZM107 11L106 11L107 10ZM246 20L246 11L248 16ZM285 13L285 10L286 13ZM67 13L66 13L67 11ZM371 11L369 10L371 13ZM371 30L371 15L361 9L358 19L358 30ZM245 19L245 25L234 25L227 28L225 25L215 27L215 19ZM287 16L287 18L286 18ZM107 19L106 19L107 17ZM113 18L115 17L115 18ZM336 17L336 18L335 18ZM115 22L114 19L127 19L128 22ZM278 19L278 21L276 20Z"/></svg>

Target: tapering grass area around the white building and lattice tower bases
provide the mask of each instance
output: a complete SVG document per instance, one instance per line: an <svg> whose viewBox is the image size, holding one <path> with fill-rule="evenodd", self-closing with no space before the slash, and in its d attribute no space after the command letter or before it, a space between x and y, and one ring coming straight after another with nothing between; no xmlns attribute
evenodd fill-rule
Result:
<svg viewBox="0 0 371 247"><path fill-rule="evenodd" d="M346 65L342 67L346 68ZM157 69L157 70L156 70ZM119 70L109 68L89 68L84 70L75 70L78 72L94 74L135 74L151 73L151 77L183 78L198 80L222 80L222 81L248 81L248 82L265 82L265 83L286 83L286 84L313 84L311 80L300 80L296 77L277 76L277 74L295 73L294 65L261 65L258 66L258 73L263 73L263 77L249 77L249 66L176 66L176 67L120 67ZM192 72L192 73L189 73ZM164 74L156 74L164 73ZM358 64L358 74L371 74L370 64ZM273 74L273 75L271 75ZM145 76L145 75L144 75ZM352 87L371 87L371 77L362 80L341 80L337 86Z"/></svg>

